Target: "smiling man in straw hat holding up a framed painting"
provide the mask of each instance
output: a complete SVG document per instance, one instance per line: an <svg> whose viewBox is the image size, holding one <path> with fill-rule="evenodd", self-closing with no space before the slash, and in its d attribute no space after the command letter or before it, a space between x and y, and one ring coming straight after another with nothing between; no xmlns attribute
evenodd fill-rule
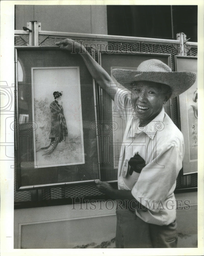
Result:
<svg viewBox="0 0 204 256"><path fill-rule="evenodd" d="M60 49L77 51L102 89L114 83L82 45L70 39L56 44L62 45ZM111 87L116 93L110 97L126 122L118 189L101 181L96 186L123 203L116 210L116 247L176 247L173 191L182 168L184 144L182 133L164 112L163 104L192 86L195 74L172 72L155 59L142 62L137 71L114 69L112 74L124 89Z"/></svg>

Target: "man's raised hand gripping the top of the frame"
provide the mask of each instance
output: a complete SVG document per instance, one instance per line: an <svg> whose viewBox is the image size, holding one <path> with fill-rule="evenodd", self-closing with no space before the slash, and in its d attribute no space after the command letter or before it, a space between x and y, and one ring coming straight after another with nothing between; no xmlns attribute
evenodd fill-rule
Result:
<svg viewBox="0 0 204 256"><path fill-rule="evenodd" d="M76 42L69 38L56 42L55 44L61 45L60 46L61 50L68 50L72 52L86 52L86 49L84 48L84 46L82 46L79 42Z"/></svg>

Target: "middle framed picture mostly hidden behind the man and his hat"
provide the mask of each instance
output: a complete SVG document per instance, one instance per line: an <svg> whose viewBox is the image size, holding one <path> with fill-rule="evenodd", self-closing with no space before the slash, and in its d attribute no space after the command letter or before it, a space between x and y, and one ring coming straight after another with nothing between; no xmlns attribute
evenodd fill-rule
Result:
<svg viewBox="0 0 204 256"><path fill-rule="evenodd" d="M117 83L111 74L112 69L132 69L136 70L139 64L148 59L159 59L165 64L171 67L171 55L170 54L139 54L139 53L123 53L118 54L112 53L107 54L106 52L101 52L100 54L101 66L107 71L111 76L113 81ZM117 84L120 86L120 84ZM111 86L109 88L109 93L111 92ZM117 168L118 160L120 156L120 149L122 145L122 138L125 130L124 120L121 118L120 113L113 109L113 101L103 92L103 133L101 136L106 137L106 146L109 144L110 152L109 156L106 155L105 161L103 163L103 175L105 180L117 180ZM164 105L165 112L171 117L170 111L170 101ZM112 125L111 125L112 124ZM111 128L111 129L110 129ZM108 134L107 134L108 133ZM101 146L103 148L104 146Z"/></svg>

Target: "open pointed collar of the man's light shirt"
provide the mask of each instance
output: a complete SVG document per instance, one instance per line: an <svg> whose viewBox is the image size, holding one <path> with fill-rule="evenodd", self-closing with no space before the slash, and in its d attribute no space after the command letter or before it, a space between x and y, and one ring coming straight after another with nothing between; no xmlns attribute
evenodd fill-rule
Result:
<svg viewBox="0 0 204 256"><path fill-rule="evenodd" d="M164 128L163 119L164 119L164 108L161 112L148 124L139 127L139 118L136 118L135 115L132 115L132 124L128 134L128 137L134 137L135 134L145 132L150 138L153 138L157 131L162 131Z"/></svg>

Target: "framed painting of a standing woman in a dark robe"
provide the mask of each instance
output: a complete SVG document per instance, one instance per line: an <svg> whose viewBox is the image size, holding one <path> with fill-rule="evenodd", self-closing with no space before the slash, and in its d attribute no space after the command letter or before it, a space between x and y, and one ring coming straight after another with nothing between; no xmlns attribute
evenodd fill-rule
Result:
<svg viewBox="0 0 204 256"><path fill-rule="evenodd" d="M83 60L55 46L17 46L15 59L17 189L94 183L95 90Z"/></svg>

